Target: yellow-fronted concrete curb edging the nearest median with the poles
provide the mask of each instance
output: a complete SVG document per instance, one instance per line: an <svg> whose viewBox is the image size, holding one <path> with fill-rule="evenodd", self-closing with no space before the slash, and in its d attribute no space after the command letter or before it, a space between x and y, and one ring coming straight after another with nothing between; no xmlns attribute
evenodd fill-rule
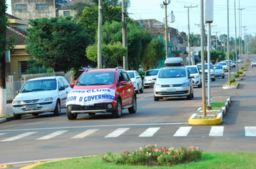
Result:
<svg viewBox="0 0 256 169"><path fill-rule="evenodd" d="M196 117L198 112L201 111L201 107L199 107L198 110L196 111L196 113L193 114L188 119L188 125L218 125L223 121L223 117L227 113L227 109L229 108L229 105L231 105L231 97L227 98L225 105L224 105L224 107L222 107L221 110L216 110L216 111L219 111L219 113L215 119L194 119L194 117ZM206 110L206 112L207 112L207 110ZM207 116L212 116L212 115L206 115L206 117Z"/></svg>

